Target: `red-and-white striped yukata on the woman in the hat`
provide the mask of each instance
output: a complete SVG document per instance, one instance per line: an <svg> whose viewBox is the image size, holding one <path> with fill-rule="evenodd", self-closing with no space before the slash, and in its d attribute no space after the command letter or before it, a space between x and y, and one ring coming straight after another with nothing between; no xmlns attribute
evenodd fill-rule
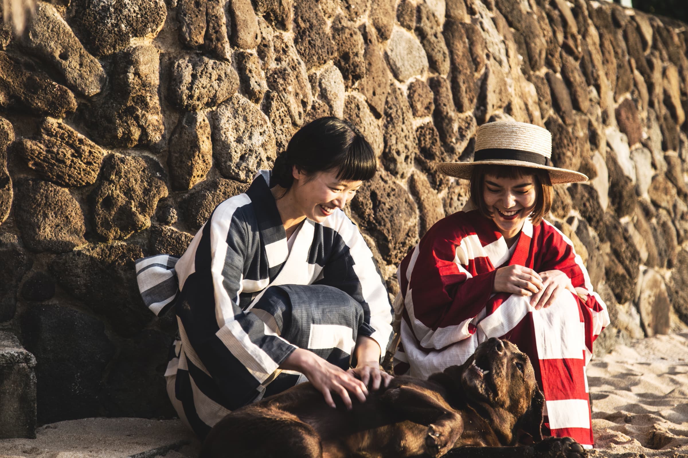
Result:
<svg viewBox="0 0 688 458"><path fill-rule="evenodd" d="M496 269L519 264L566 273L578 295L535 310L531 297L493 293ZM396 374L427 378L462 364L491 337L528 354L546 400L551 435L592 448L585 366L609 315L573 244L549 222L524 222L512 249L493 220L459 211L436 223L398 269L403 311Z"/></svg>

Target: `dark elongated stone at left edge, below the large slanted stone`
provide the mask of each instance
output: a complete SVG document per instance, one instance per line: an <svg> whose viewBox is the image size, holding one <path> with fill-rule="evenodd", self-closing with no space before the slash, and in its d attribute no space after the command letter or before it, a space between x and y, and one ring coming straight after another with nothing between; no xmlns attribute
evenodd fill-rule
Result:
<svg viewBox="0 0 688 458"><path fill-rule="evenodd" d="M23 68L0 51L0 107L62 118L76 110L72 91Z"/></svg>

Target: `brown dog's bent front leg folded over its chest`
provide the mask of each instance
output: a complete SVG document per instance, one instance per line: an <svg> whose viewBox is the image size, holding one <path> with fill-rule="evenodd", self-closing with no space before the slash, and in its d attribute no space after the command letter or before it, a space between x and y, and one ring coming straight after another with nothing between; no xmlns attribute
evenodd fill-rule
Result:
<svg viewBox="0 0 688 458"><path fill-rule="evenodd" d="M424 441L431 457L441 457L451 450L464 431L460 415L436 393L402 386L385 391L382 400L404 420L428 427Z"/></svg>

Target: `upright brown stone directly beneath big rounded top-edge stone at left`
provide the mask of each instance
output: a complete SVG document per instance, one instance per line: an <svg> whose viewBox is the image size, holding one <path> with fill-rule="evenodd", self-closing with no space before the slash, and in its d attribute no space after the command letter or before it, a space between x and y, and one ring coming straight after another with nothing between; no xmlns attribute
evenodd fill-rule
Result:
<svg viewBox="0 0 688 458"><path fill-rule="evenodd" d="M158 84L160 59L153 46L122 51L115 58L109 95L95 104L85 122L99 144L152 146L162 138Z"/></svg>

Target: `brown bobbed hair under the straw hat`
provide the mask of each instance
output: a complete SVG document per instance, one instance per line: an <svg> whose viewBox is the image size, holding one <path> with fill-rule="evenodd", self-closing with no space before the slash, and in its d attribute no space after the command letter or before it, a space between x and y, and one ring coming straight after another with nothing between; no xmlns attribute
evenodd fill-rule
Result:
<svg viewBox="0 0 688 458"><path fill-rule="evenodd" d="M513 165L475 165L471 173L471 183L469 184L469 193L473 205L480 210L486 218L494 218L491 211L487 209L487 205L483 198L483 190L485 185L485 176L492 175L497 178L517 179L522 176L535 177L535 209L530 214L530 220L534 226L537 226L542 221L542 218L550 211L552 207L552 181L547 170L530 167L518 167Z"/></svg>

